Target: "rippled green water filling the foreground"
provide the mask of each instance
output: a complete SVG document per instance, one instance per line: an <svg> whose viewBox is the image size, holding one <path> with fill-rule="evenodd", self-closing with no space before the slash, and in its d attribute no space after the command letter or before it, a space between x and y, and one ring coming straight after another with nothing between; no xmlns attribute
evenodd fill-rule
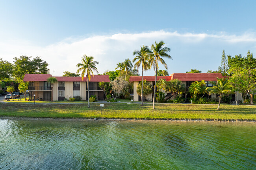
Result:
<svg viewBox="0 0 256 170"><path fill-rule="evenodd" d="M0 169L255 169L255 139L252 122L0 119Z"/></svg>

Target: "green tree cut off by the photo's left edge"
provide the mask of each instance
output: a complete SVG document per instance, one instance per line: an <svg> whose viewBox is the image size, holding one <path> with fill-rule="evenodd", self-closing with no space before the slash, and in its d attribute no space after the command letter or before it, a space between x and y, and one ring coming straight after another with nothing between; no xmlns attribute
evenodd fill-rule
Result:
<svg viewBox="0 0 256 170"><path fill-rule="evenodd" d="M9 79L13 73L13 65L0 58L0 80Z"/></svg>

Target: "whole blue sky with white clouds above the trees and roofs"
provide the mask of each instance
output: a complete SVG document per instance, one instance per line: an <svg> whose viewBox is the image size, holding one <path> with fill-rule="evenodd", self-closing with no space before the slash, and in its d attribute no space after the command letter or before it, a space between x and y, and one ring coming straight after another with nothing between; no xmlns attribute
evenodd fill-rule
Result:
<svg viewBox="0 0 256 170"><path fill-rule="evenodd" d="M0 0L0 58L40 56L61 76L76 72L85 54L104 73L163 40L169 74L206 73L218 69L223 49L256 53L255 7L255 0Z"/></svg>

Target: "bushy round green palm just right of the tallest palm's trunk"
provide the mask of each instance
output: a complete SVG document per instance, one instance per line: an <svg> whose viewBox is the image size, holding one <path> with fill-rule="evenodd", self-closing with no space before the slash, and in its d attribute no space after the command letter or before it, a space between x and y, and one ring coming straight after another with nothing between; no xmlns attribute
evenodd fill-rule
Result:
<svg viewBox="0 0 256 170"><path fill-rule="evenodd" d="M182 84L181 80L173 79L169 82L166 82L165 90L171 93L174 98L176 98L179 94L182 94L182 92L184 92L186 89L185 85Z"/></svg>

